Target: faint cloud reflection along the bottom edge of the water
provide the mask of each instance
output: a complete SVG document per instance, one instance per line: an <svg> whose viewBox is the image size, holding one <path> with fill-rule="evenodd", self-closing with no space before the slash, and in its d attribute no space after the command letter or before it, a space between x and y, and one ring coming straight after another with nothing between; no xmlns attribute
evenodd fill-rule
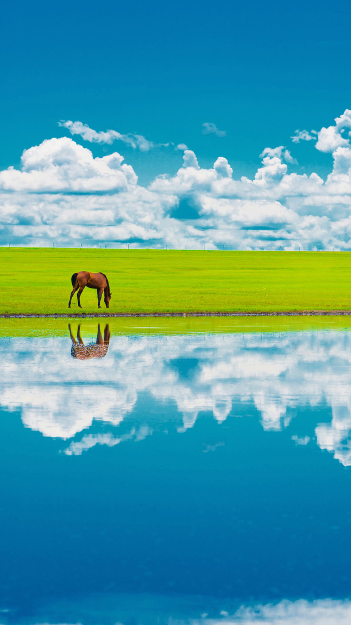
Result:
<svg viewBox="0 0 351 625"><path fill-rule="evenodd" d="M225 602L224 602L225 604ZM229 606L226 608L230 609ZM202 612L201 609L209 612ZM43 614L27 625L76 623L92 625L99 614L101 625L349 625L351 602L349 599L317 599L315 601L282 600L278 603L242 605L229 613L221 609L218 599L201 596L163 596L153 594L101 594L86 597L85 601L56 603L41 610ZM194 614L198 616L194 616ZM69 614L70 621L62 620ZM216 614L216 616L214 616ZM45 615L45 616L44 616ZM92 615L95 615L92 616ZM56 619L53 621L52 619ZM116 621L117 619L117 621ZM17 622L15 623L17 625Z"/></svg>

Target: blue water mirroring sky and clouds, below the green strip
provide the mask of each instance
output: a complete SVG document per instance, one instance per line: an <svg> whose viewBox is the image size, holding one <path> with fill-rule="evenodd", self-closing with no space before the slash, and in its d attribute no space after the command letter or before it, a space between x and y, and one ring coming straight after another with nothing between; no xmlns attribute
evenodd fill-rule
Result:
<svg viewBox="0 0 351 625"><path fill-rule="evenodd" d="M139 332L0 339L0 622L349 623L351 332Z"/></svg>

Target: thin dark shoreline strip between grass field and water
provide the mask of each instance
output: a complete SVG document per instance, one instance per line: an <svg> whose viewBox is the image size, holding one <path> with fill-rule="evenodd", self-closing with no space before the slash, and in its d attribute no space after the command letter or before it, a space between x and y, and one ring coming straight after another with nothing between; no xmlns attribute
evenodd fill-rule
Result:
<svg viewBox="0 0 351 625"><path fill-rule="evenodd" d="M87 319L88 317L308 317L308 316L351 316L349 311L236 311L236 312L80 312L77 314L50 312L0 314L0 319Z"/></svg>

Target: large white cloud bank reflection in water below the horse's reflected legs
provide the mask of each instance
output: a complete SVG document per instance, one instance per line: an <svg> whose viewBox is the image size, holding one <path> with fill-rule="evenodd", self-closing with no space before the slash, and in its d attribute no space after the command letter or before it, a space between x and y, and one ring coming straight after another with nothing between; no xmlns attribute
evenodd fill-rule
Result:
<svg viewBox="0 0 351 625"><path fill-rule="evenodd" d="M24 426L44 436L70 439L95 423L66 447L79 455L97 444L115 446L140 441L153 429L165 429L163 417L152 424L134 412L146 392L156 402L177 408L173 426L185 432L200 412L221 424L233 417L239 402L259 412L265 431L291 426L292 411L326 404L330 422L319 422L320 449L351 466L351 335L349 332L227 334L203 336L112 337L99 361L77 363L67 339L1 339L0 406L21 410ZM191 375L181 375L179 362L196 362ZM340 373L340 371L342 373ZM103 404L96 397L103 389ZM132 429L120 436L96 432L97 424L120 427L132 417ZM317 414L317 411L315 411ZM139 422L142 419L142 422ZM124 436L124 438L123 438ZM309 436L292 434L292 444L312 444ZM218 442L220 445L221 443ZM315 444L315 443L314 443ZM212 449L210 450L212 451Z"/></svg>

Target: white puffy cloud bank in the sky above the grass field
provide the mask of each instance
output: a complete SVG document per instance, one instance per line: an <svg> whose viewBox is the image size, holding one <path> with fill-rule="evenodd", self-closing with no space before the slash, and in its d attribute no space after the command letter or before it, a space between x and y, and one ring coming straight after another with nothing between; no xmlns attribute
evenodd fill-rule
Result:
<svg viewBox="0 0 351 625"><path fill-rule="evenodd" d="M139 135L62 125L90 143L151 146ZM297 131L293 141L313 138L306 133ZM183 166L147 187L117 152L94 158L72 138L47 139L24 151L21 168L0 172L0 244L351 249L350 133L349 109L317 133L315 148L332 153L325 180L289 173L296 159L285 146L265 148L254 178L237 179L226 158L202 168L178 144ZM180 203L192 207L189 216L174 216Z"/></svg>

